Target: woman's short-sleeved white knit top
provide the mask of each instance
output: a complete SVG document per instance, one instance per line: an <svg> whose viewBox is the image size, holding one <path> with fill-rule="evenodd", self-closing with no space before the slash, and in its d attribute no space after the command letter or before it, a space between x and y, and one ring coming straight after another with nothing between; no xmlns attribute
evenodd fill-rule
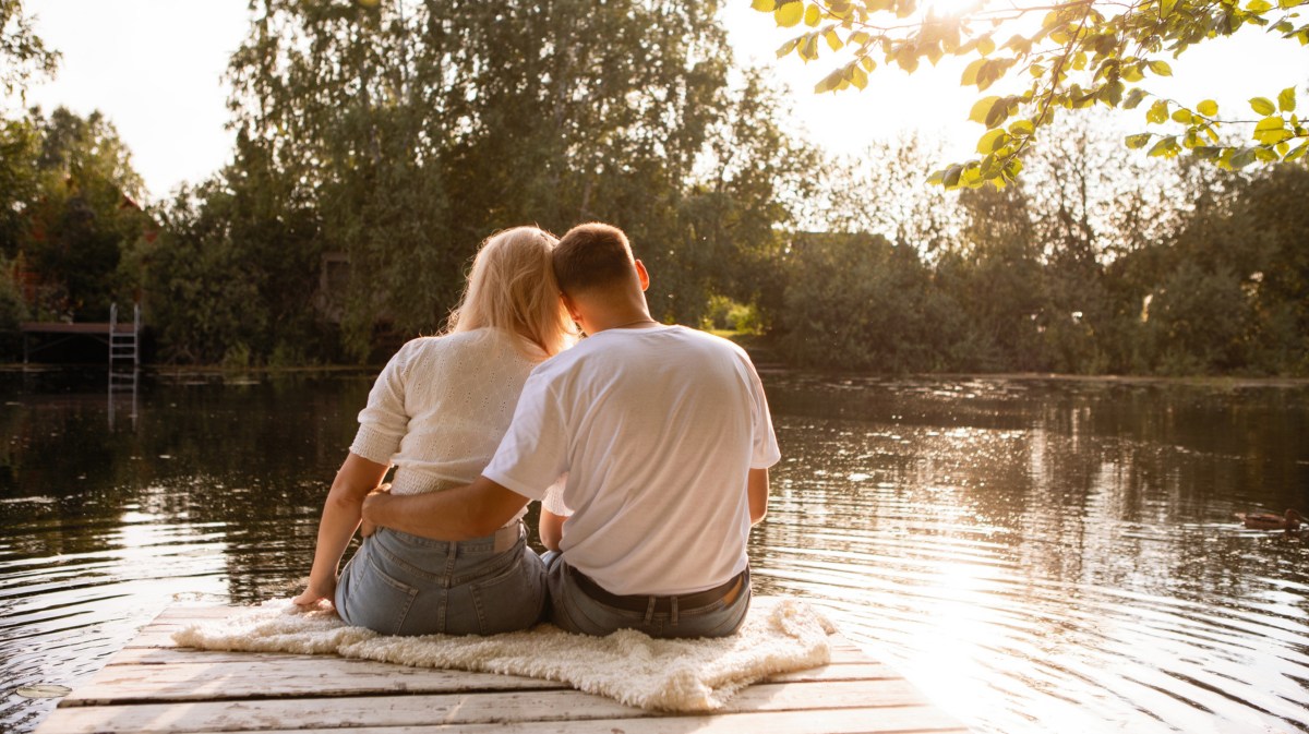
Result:
<svg viewBox="0 0 1309 734"><path fill-rule="evenodd" d="M350 450L395 464L391 492L470 484L509 429L531 360L521 338L496 328L415 339L391 357L359 413Z"/></svg>

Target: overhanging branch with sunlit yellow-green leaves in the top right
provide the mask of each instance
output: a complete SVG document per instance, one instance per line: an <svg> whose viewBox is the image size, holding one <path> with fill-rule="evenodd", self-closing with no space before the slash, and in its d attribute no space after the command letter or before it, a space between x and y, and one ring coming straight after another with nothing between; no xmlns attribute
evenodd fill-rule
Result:
<svg viewBox="0 0 1309 734"><path fill-rule="evenodd" d="M1128 148L1149 147L1151 156L1174 157L1190 150L1224 169L1255 161L1296 161L1309 150L1309 127L1296 115L1296 89L1253 97L1250 113L1220 113L1212 99L1178 103L1152 97L1140 84L1148 76L1170 76L1166 55L1178 56L1204 41L1230 35L1242 26L1264 27L1276 38L1309 44L1309 24L1296 9L1309 0L1058 0L1050 4L997 5L975 3L961 14L939 13L918 0L753 0L757 10L772 13L778 25L804 24L810 30L792 38L778 56L804 60L823 52L848 58L818 82L817 92L863 89L878 65L914 72L925 60L946 55L970 58L962 85L987 92L1004 79L1024 88L1012 94L980 97L970 119L986 126L978 140L982 156L949 165L931 181L946 188L1004 186L1017 179L1022 154L1055 111L1097 103L1135 109L1149 101L1145 120L1181 127L1173 133L1141 132L1126 139ZM1041 16L1039 24L1031 20ZM1005 39L1005 37L1008 38ZM823 50L826 46L827 51ZM1250 141L1232 144L1220 135L1229 124L1253 126Z"/></svg>

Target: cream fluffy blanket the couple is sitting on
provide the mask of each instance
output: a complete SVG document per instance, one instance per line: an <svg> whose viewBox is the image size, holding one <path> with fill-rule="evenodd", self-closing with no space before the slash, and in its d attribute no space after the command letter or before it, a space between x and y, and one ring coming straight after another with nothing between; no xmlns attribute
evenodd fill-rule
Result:
<svg viewBox="0 0 1309 734"><path fill-rule="evenodd" d="M755 599L741 629L717 640L654 640L631 629L589 637L550 624L490 637L394 637L347 627L330 610L301 612L289 599L278 599L192 624L173 640L206 650L338 654L526 675L634 707L703 712L721 708L764 676L826 665L827 635L834 631L822 614L798 601Z"/></svg>

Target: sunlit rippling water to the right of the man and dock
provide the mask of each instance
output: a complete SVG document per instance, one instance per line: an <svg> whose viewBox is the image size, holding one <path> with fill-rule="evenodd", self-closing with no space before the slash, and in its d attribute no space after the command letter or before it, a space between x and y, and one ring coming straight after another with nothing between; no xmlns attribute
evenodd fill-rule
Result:
<svg viewBox="0 0 1309 734"><path fill-rule="evenodd" d="M1309 730L1302 389L779 387L757 577L979 730Z"/></svg>

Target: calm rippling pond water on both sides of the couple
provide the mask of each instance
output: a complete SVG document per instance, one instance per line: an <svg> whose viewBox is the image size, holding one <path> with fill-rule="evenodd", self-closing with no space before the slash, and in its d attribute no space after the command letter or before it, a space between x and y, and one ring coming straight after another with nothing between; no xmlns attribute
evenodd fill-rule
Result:
<svg viewBox="0 0 1309 734"><path fill-rule="evenodd" d="M372 379L0 373L0 730L173 599L289 595ZM761 591L982 733L1309 731L1309 387L764 376Z"/></svg>

